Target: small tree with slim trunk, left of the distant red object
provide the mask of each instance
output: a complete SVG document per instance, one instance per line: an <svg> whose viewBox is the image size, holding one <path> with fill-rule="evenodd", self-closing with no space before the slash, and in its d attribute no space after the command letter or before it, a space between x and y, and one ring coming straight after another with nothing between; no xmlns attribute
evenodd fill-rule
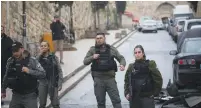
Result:
<svg viewBox="0 0 201 108"><path fill-rule="evenodd" d="M126 1L115 1L117 15L118 15L118 27L122 27L122 14L126 9Z"/></svg>

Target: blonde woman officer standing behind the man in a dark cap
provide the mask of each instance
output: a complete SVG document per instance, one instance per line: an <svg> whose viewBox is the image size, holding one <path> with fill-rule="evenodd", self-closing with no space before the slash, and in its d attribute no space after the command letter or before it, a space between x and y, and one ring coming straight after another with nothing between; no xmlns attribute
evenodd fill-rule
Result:
<svg viewBox="0 0 201 108"><path fill-rule="evenodd" d="M53 108L59 108L58 91L62 88L62 69L57 57L50 53L48 42L41 42L40 50L38 61L46 71L46 78L39 81L39 108L45 108L47 94L50 96Z"/></svg>

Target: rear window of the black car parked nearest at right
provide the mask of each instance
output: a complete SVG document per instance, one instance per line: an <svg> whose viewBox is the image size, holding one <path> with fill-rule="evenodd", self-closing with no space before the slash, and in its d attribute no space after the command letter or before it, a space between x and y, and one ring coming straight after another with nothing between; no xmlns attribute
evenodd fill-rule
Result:
<svg viewBox="0 0 201 108"><path fill-rule="evenodd" d="M189 40L182 47L183 53L201 53L201 39Z"/></svg>

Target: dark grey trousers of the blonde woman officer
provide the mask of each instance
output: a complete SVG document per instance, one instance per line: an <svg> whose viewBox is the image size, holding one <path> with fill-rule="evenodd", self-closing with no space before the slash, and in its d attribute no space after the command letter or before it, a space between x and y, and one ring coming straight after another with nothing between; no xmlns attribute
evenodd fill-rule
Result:
<svg viewBox="0 0 201 108"><path fill-rule="evenodd" d="M57 87L52 88L50 84L39 84L39 100L40 100L39 108L45 108L48 94L50 96L50 101L53 108L60 108L58 98L58 88Z"/></svg>

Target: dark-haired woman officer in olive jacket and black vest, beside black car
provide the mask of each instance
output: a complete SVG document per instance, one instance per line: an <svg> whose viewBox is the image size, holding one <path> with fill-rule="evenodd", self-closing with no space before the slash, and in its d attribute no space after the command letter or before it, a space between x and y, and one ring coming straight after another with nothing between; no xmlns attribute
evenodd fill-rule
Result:
<svg viewBox="0 0 201 108"><path fill-rule="evenodd" d="M130 108L155 108L154 96L160 93L163 79L154 60L146 60L141 45L134 48L135 62L125 74L124 93Z"/></svg>

